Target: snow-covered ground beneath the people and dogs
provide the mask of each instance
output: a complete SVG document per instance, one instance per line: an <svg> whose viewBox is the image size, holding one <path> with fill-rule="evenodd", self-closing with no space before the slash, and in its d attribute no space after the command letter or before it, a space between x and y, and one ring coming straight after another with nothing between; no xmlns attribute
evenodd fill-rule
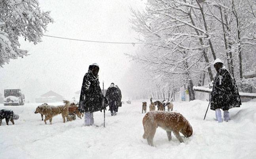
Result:
<svg viewBox="0 0 256 159"><path fill-rule="evenodd" d="M0 126L0 158L136 158L136 159L255 159L256 158L256 102L243 103L230 109L231 121L218 123L215 113L209 109L203 121L208 102L174 102L174 111L184 115L193 128L193 135L180 143L173 135L168 141L166 132L157 128L151 147L142 138L142 100L119 107L117 116L103 112L94 113L95 124L83 126L83 120L63 123L61 115L47 125L40 114L34 114L38 104L3 106L20 116L15 125ZM146 101L150 103L149 101ZM57 105L57 104L56 104Z"/></svg>

